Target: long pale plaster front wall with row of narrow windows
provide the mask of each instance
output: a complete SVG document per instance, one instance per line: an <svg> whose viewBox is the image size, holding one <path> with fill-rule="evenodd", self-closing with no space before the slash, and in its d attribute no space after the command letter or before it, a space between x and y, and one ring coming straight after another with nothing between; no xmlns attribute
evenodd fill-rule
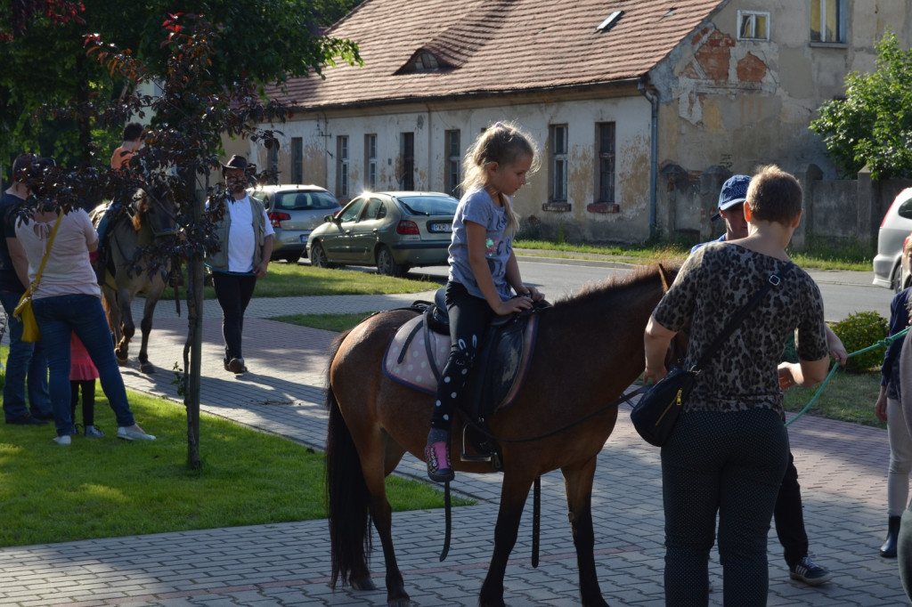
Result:
<svg viewBox="0 0 912 607"><path fill-rule="evenodd" d="M336 141L348 136L349 193L365 189L365 134L377 135L378 190L399 190L397 175L402 166L399 139L413 132L415 141L414 180L416 190L446 190L449 150L446 131L460 131L461 156L483 129L498 121L513 121L534 139L542 159L541 170L514 197L516 211L524 221L534 221L545 235L562 231L568 238L588 241L645 240L649 221L649 120L646 98L588 98L575 100L529 99L528 103L502 107L455 108L414 106L339 110L337 114L295 113L282 125L280 170L290 170L290 140L304 140L305 180L336 192ZM596 202L598 159L596 123L616 123L616 202L618 212L592 212ZM570 211L544 211L549 201L550 125L566 125L569 174L567 183ZM252 149L254 154L256 150ZM264 156L264 151L262 152ZM285 173L287 174L287 173ZM280 180L285 180L280 176Z"/></svg>

